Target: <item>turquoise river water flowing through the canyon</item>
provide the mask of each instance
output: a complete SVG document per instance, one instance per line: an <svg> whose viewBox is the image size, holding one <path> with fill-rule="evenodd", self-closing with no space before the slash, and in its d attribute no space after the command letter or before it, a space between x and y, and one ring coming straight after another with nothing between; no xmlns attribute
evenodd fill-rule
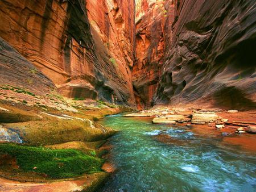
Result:
<svg viewBox="0 0 256 192"><path fill-rule="evenodd" d="M255 153L222 146L221 137L121 115L102 123L119 132L110 139L116 169L101 191L256 191ZM174 143L156 139L160 131Z"/></svg>

